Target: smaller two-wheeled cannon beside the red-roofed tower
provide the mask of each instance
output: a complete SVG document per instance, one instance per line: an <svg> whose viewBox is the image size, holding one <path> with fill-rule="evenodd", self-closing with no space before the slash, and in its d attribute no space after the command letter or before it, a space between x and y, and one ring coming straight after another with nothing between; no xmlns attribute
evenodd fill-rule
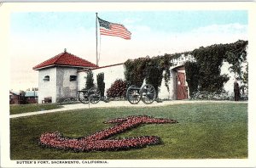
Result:
<svg viewBox="0 0 256 168"><path fill-rule="evenodd" d="M82 89L79 92L79 101L82 104L97 104L101 99L101 92L97 87L91 87L90 89Z"/></svg>

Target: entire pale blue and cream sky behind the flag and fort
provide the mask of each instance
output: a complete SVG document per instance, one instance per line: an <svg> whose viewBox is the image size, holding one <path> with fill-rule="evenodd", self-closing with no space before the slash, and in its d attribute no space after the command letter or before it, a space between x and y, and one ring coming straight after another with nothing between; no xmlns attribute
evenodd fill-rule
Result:
<svg viewBox="0 0 256 168"><path fill-rule="evenodd" d="M247 10L104 11L98 16L131 31L131 40L99 36L100 66L247 40ZM32 67L62 53L64 48L96 63L96 13L12 13L9 46L15 48L10 50L15 67L10 70L10 87L38 87L38 72Z"/></svg>

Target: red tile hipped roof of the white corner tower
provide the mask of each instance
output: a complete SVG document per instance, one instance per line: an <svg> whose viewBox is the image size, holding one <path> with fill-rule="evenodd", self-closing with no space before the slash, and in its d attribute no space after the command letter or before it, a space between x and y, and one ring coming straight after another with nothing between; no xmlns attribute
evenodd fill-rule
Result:
<svg viewBox="0 0 256 168"><path fill-rule="evenodd" d="M60 53L56 55L55 57L48 59L44 61L41 64L38 64L33 67L33 70L40 70L49 66L54 66L54 65L64 65L64 66L75 66L75 67L90 67L90 68L96 68L97 65L90 63L89 61L85 59L81 59L72 53Z"/></svg>

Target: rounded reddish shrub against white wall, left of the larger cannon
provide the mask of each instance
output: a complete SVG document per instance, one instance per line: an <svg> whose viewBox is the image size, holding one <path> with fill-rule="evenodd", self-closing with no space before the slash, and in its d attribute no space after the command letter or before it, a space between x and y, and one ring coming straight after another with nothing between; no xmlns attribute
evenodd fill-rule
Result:
<svg viewBox="0 0 256 168"><path fill-rule="evenodd" d="M127 83L122 79L118 79L113 82L110 88L107 90L108 98L125 98L125 94L127 91Z"/></svg>

